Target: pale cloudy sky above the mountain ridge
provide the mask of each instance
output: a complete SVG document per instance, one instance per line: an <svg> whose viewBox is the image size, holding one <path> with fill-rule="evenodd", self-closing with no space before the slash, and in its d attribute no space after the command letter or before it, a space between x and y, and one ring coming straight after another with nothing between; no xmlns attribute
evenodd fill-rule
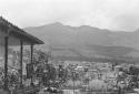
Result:
<svg viewBox="0 0 139 94"><path fill-rule="evenodd" d="M20 28L61 22L139 29L139 0L0 0L0 14Z"/></svg>

